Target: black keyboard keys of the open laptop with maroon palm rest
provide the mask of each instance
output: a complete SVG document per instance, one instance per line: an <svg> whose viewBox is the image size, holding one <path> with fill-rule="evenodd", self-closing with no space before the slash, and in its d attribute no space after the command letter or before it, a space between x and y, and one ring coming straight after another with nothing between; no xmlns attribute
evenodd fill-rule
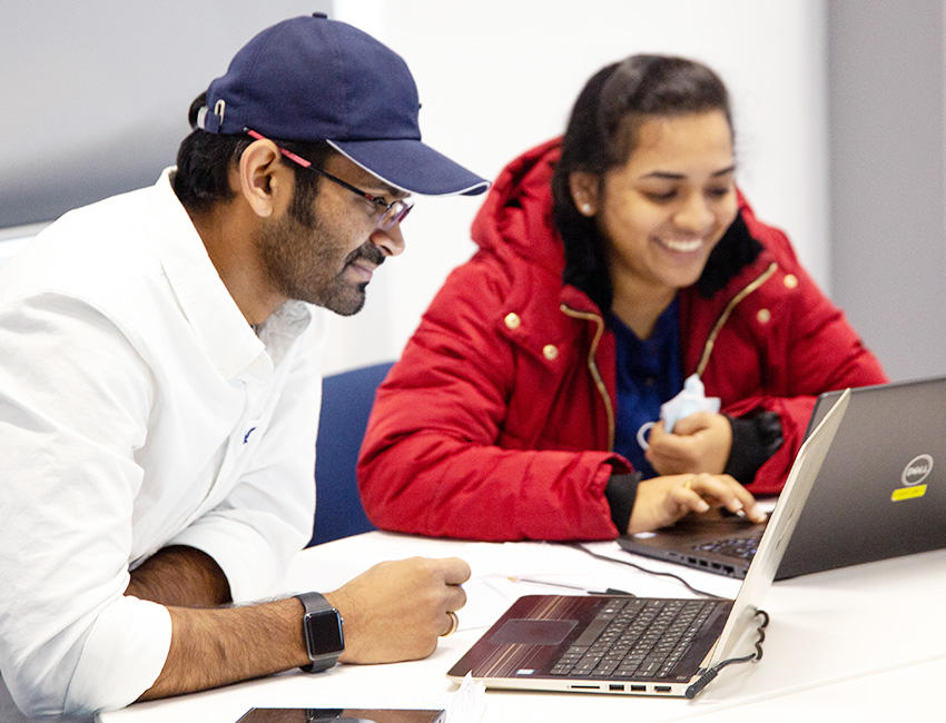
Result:
<svg viewBox="0 0 946 723"><path fill-rule="evenodd" d="M553 665L572 677L668 677L718 601L614 598Z"/></svg>

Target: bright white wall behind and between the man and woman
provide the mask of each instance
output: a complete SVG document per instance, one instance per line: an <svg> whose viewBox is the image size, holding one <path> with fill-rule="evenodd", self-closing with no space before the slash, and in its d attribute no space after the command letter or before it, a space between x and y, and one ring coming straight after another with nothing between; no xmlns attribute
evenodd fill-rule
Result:
<svg viewBox="0 0 946 723"><path fill-rule="evenodd" d="M564 129L584 81L634 52L702 60L729 86L739 184L785 228L816 279L830 278L824 0L335 0L334 17L401 53L421 130L493 178ZM365 309L334 319L328 368L395 358L451 268L474 246L476 198L418 199L407 250L375 276Z"/></svg>

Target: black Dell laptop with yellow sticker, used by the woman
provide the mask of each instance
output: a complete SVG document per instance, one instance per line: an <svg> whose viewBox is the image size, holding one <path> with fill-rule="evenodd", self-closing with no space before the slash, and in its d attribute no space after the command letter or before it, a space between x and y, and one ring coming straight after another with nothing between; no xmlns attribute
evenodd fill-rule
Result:
<svg viewBox="0 0 946 723"><path fill-rule="evenodd" d="M818 398L809 434L839 395ZM944 515L946 377L851 389L776 580L946 547ZM639 555L743 577L763 527L712 514L619 542Z"/></svg>

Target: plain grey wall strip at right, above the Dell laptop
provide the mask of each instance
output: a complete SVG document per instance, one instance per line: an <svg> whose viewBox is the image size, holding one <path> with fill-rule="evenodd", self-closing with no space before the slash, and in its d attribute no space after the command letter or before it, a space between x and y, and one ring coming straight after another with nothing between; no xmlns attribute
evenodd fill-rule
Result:
<svg viewBox="0 0 946 723"><path fill-rule="evenodd" d="M832 297L895 379L946 374L943 0L829 0Z"/></svg>

